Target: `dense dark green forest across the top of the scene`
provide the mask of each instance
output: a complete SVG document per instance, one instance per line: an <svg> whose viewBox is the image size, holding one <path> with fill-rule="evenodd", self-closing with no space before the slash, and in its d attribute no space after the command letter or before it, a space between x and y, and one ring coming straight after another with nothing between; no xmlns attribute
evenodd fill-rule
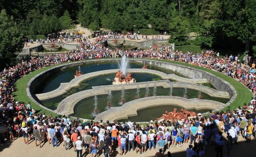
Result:
<svg viewBox="0 0 256 157"><path fill-rule="evenodd" d="M75 22L92 31L166 31L176 45L252 54L255 8L256 0L1 0L0 58L18 53L27 35L55 33Z"/></svg>

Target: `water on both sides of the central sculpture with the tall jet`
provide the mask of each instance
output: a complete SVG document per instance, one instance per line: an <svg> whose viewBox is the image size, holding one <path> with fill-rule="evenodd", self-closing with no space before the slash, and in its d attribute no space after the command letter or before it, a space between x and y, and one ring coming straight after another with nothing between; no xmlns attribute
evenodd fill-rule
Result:
<svg viewBox="0 0 256 157"><path fill-rule="evenodd" d="M87 89L91 89L92 86L105 86L105 85L112 85L113 78L115 77L115 73L108 74L108 75L100 75L89 80L83 81L79 86L71 88L71 90L67 91L67 93L60 95L58 97L54 97L48 100L41 100L41 104L55 110L63 99L72 95L74 93L85 91ZM136 78L137 82L147 82L153 80L162 80L160 76L153 75L150 73L133 73L132 76Z"/></svg>

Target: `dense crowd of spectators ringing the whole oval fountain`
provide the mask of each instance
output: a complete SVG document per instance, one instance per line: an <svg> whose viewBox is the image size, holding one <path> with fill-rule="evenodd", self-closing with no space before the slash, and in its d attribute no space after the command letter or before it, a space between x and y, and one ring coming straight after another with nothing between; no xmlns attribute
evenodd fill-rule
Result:
<svg viewBox="0 0 256 157"><path fill-rule="evenodd" d="M216 146L218 156L222 156L224 141L222 133L227 133L227 156L232 150L233 143L237 144L238 137L246 138L249 142L256 133L256 100L252 98L249 104L241 104L236 110L209 113L206 117L201 114L196 117L167 122L153 122L139 125L133 122L87 122L72 120L63 115L53 117L45 113L37 113L30 102L17 102L12 95L15 82L24 75L37 69L55 64L91 60L100 58L117 58L122 55L134 58L155 58L173 60L202 66L219 71L240 81L255 93L255 74L253 69L240 64L239 57L219 57L214 51L198 53L174 51L171 46L154 45L146 50L108 49L96 40L79 40L80 49L67 54L46 55L44 57L22 57L16 66L7 66L0 73L0 140L14 140L20 135L25 144L35 139L36 146L49 142L54 146L62 144L66 149L73 145L74 151L81 156L82 148L95 154L103 153L105 157L114 154L119 149L121 155L133 149L143 155L153 148L156 156L189 143L187 157L203 157L209 143ZM171 149L170 149L171 148ZM170 156L170 153L168 153Z"/></svg>

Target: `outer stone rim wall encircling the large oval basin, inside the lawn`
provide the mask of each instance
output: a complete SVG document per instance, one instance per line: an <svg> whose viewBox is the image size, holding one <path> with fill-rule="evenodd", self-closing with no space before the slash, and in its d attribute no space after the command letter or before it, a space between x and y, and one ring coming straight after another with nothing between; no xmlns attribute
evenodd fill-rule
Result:
<svg viewBox="0 0 256 157"><path fill-rule="evenodd" d="M120 60L121 59L117 59L117 60L114 60L114 61L120 61ZM48 111L52 111L52 110L44 107L43 105L39 104L37 102L37 98L33 97L33 94L32 94L32 93L34 93L35 89L37 89L39 87L39 85L41 83L43 83L44 80L47 79L51 75L51 73L62 71L63 69L66 69L66 68L69 68L69 67L72 67L72 66L82 65L82 64L85 64L85 63L107 62L107 61L113 61L113 59L84 60L84 61L79 61L79 62L72 62L72 63L68 63L68 64L58 65L58 66L55 66L51 69L43 71L42 73L39 73L38 75L33 77L28 82L28 84L27 84L27 95L37 105L41 106L42 108L45 108ZM228 82L224 81L223 79L221 79L221 78L219 78L219 77L217 77L213 74L210 74L206 71L202 71L202 70L199 70L199 69L195 69L195 68L192 68L192 67L183 66L183 65L179 65L179 64L161 62L160 60L130 59L130 61L132 61L132 62L142 62L142 63L146 63L146 64L152 64L152 65L160 66L160 67L170 69L170 70L178 72L178 73L182 73L183 75L185 75L187 77L190 77L190 78L194 78L194 79L205 78L210 83L212 83L219 91L225 91L225 92L228 92L229 95L231 95L230 101L228 103L226 103L225 106L227 106L231 102L233 102L235 100L235 97L237 96L237 93L236 93L235 89L233 88L233 86L231 86L231 84L229 84ZM216 108L216 110L220 110L222 108L224 108L224 106L219 106L219 108ZM52 112L57 113L57 111L52 111Z"/></svg>

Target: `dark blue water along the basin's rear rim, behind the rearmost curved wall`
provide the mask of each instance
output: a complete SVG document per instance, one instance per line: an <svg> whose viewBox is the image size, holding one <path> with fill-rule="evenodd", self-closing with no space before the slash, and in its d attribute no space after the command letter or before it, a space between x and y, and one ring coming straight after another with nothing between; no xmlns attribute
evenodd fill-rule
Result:
<svg viewBox="0 0 256 157"><path fill-rule="evenodd" d="M142 68L142 66L143 66L142 63L130 62L129 68L140 69L140 68ZM37 91L35 91L34 94L50 92L50 91L57 89L59 87L60 83L70 82L74 78L75 71L77 69L78 69L78 66L74 66L71 68L67 68L64 71L60 71L59 73L55 73L55 74L51 75L50 77L47 78L47 80L43 84L40 84L39 88L37 88ZM95 72L95 71L108 70L108 69L119 69L119 63L118 62L105 62L105 63L101 63L101 64L99 64L99 63L83 64L80 66L80 69L83 74L91 73L91 72ZM148 65L148 69L161 71L166 74L174 73L176 75L184 77L183 75L181 75L179 73L176 73L169 69L161 68L159 66ZM143 75L146 75L146 73L144 73ZM134 78L137 80L136 77L137 76L135 76ZM112 81L112 79L114 79L114 77L110 78L111 81Z"/></svg>

